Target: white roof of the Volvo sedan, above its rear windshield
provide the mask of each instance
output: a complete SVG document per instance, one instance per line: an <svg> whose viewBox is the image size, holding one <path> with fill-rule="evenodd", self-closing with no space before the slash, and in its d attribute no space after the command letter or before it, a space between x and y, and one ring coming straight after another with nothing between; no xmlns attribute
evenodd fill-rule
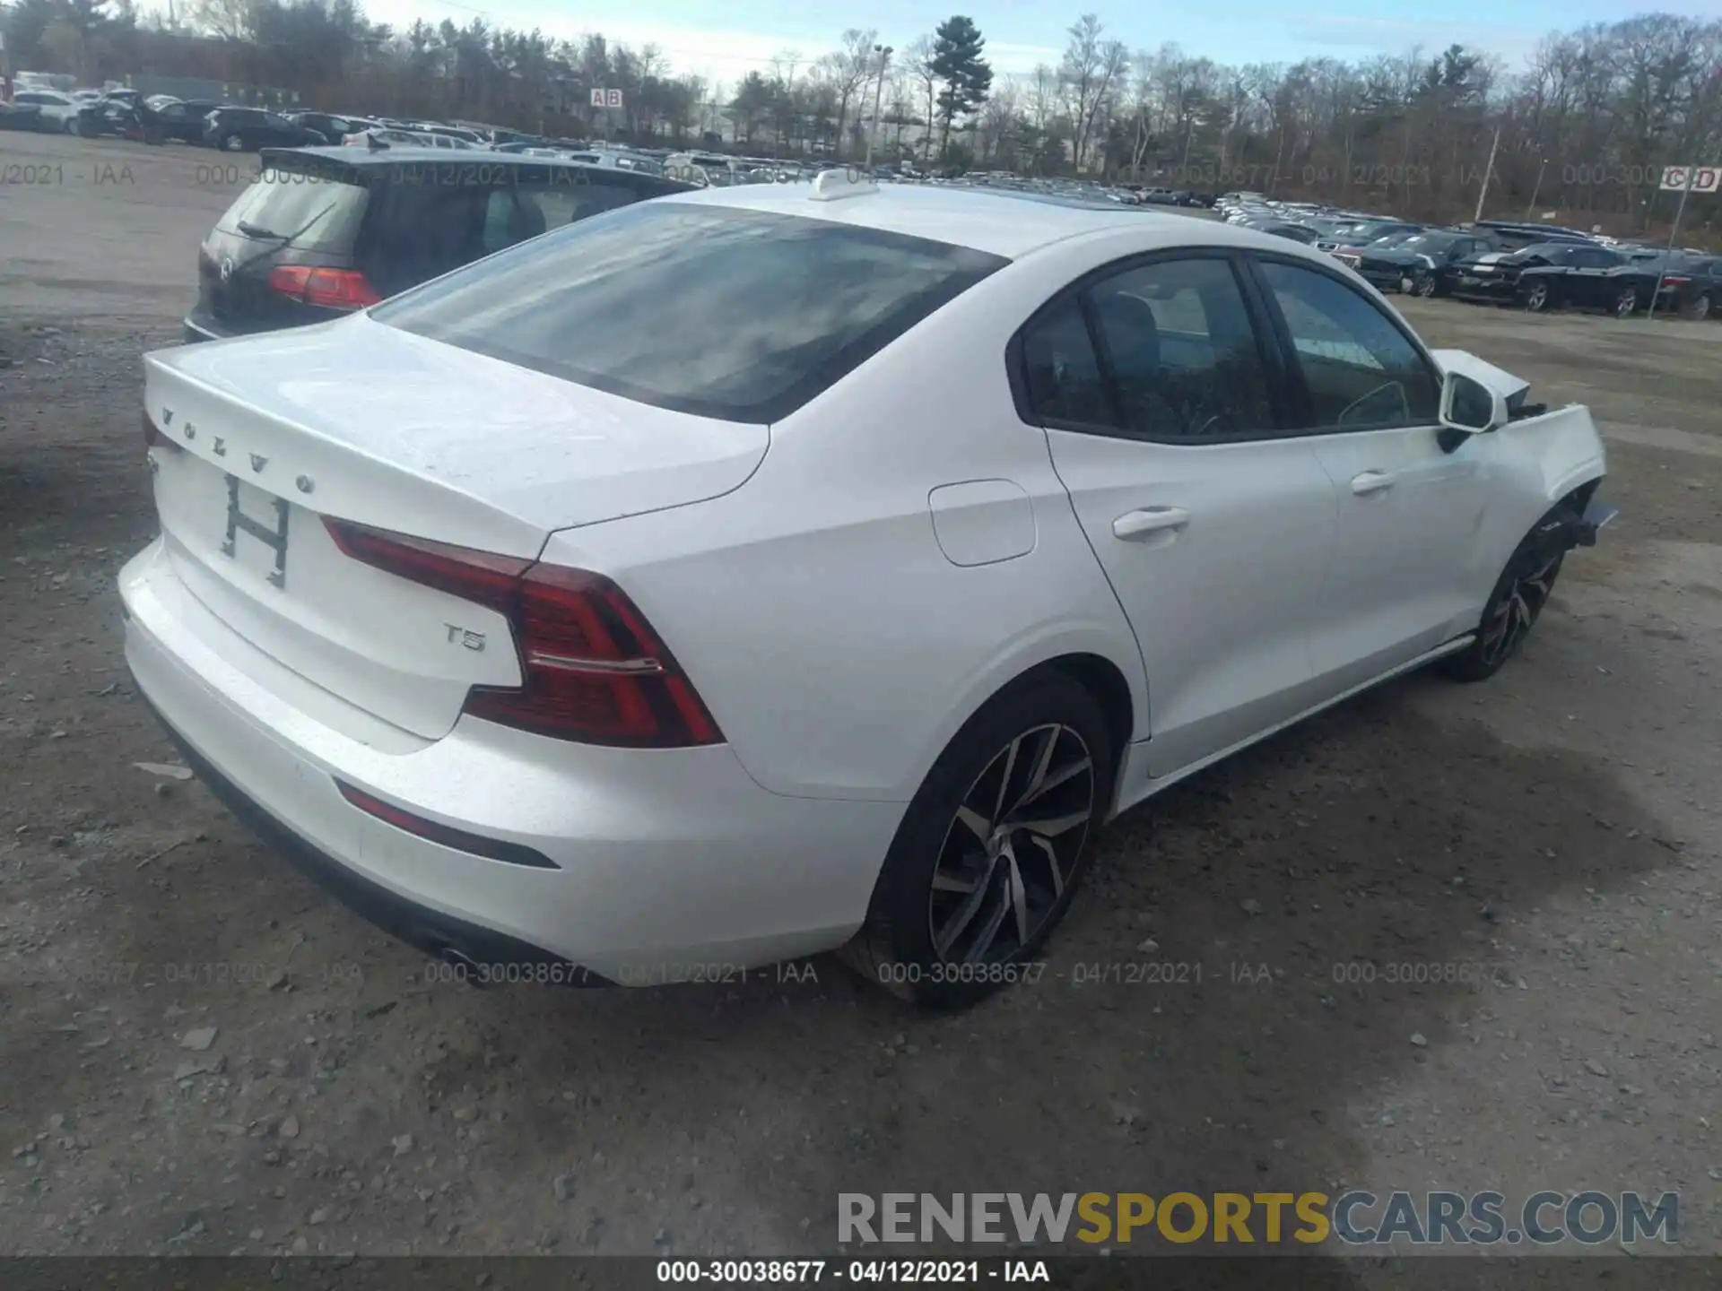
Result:
<svg viewBox="0 0 1722 1291"><path fill-rule="evenodd" d="M828 201L816 201L811 195L811 184L740 184L682 193L673 200L802 215L880 232L901 232L909 238L987 251L1007 260L1016 260L1066 238L1126 227L1154 234L1166 246L1202 243L1279 250L1285 241L1190 215L1155 213L1137 207L1119 207L1112 201L1066 200L980 186L880 184L875 191L846 195Z"/></svg>

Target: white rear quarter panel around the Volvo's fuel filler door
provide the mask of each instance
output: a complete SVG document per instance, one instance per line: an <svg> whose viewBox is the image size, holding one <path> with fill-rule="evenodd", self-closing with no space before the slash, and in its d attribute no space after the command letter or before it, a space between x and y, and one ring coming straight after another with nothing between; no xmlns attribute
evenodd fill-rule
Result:
<svg viewBox="0 0 1722 1291"><path fill-rule="evenodd" d="M1006 375L1011 334L1090 260L994 274L773 425L734 494L561 530L544 558L620 582L777 794L906 802L987 699L1071 652L1123 673L1145 737L1135 635ZM1000 479L1033 549L952 565L928 494Z"/></svg>

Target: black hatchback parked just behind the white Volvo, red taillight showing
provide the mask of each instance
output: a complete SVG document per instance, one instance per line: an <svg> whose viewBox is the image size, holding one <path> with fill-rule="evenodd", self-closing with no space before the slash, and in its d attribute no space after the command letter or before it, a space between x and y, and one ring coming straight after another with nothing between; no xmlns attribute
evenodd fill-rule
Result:
<svg viewBox="0 0 1722 1291"><path fill-rule="evenodd" d="M186 341L339 318L541 232L691 191L549 157L265 150L258 181L198 251Z"/></svg>

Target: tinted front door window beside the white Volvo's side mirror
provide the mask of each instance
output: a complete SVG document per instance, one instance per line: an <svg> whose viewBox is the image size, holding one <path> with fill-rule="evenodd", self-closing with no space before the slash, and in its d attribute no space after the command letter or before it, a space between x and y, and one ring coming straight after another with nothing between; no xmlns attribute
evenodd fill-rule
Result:
<svg viewBox="0 0 1722 1291"><path fill-rule="evenodd" d="M1364 430L1436 420L1429 363L1374 301L1298 265L1264 263L1321 429Z"/></svg>

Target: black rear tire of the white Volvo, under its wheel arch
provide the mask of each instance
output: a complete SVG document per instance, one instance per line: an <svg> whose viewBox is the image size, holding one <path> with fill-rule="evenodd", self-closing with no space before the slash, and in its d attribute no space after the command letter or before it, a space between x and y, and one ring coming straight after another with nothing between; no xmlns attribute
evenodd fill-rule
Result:
<svg viewBox="0 0 1722 1291"><path fill-rule="evenodd" d="M1044 757L1047 738L1054 749ZM1013 749L1016 756L1006 761ZM1083 754L1087 771L1071 771ZM885 856L866 923L842 959L925 1009L963 1009L1013 981L1031 981L1028 961L1064 917L1087 873L1112 800L1112 759L1106 716L1071 676L1047 670L995 695L928 771ZM1045 788L1030 794L1037 769ZM995 819L983 823L968 806L1016 797L1021 802L994 809ZM1028 819L1016 811L1028 802L1044 804L1031 814L1052 812L1035 823L1062 825L1085 809L1083 802L1088 814L1035 845L1031 830L1011 825ZM973 886L952 886L966 873L975 876Z"/></svg>

